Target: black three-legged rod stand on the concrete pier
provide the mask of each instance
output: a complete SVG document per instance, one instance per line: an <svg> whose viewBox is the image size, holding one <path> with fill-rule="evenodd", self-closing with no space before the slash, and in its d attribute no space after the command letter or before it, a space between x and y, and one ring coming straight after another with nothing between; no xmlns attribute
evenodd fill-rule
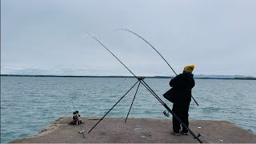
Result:
<svg viewBox="0 0 256 144"><path fill-rule="evenodd" d="M181 120L180 118L178 118L178 116L177 116L176 114L174 114L174 112L173 112L172 110L170 110L170 107L168 107L168 106L166 105L166 103L163 102L162 99L160 99L160 98L158 97L158 95L154 93L154 90L152 90L152 89L150 88L150 86L148 86L148 85L146 84L146 82L144 81L144 78L139 78L139 77L136 77L136 78L138 79L138 81L135 82L133 86L131 86L130 90L132 90L132 89L134 88L134 86L136 86L137 83L138 83L138 87L140 86L140 84L142 84L143 86L145 86L146 89L149 90L150 93L153 94L154 97L158 99L158 101L162 104L162 106L164 106L164 107L166 108L166 110L168 110L168 111L170 112L170 114L173 114L173 116L174 116L175 118L177 118L179 122L182 123L182 126L184 126L184 127L190 132L190 134L192 134L192 136L193 136L195 139L198 139L198 142L202 143L201 140L199 139L199 137L201 136L201 134L198 134L198 135L196 136L196 135L193 133L193 131L190 130L190 128L188 128L188 127L182 122L182 120ZM134 99L135 99L135 97L136 97L136 95L137 95L138 87L137 87L137 90L136 90L136 92L135 92L135 94L134 94ZM126 92L126 94L128 94L128 93L130 92L130 90L128 90L128 91ZM124 97L126 96L126 94L124 94L124 95L122 96L122 98L124 98ZM118 100L118 102L120 102L120 101L122 100L122 98L120 98L120 99ZM130 110L131 110L131 107L133 106L134 99L133 99L133 101L132 101L132 103L131 103L131 105L130 105L130 109L129 109L129 112L128 112L127 116L126 116L126 120L127 120L127 118L128 118L128 115L130 114ZM118 104L118 102L116 102L116 103L114 104L114 106L116 106L116 105ZM114 106L112 106L112 107L110 108L110 110L109 110L108 112L106 112L106 114L89 130L88 133L90 133L90 131L93 130L94 127L97 126L98 123L101 122L102 119L105 118L106 115L109 114L110 111L114 109ZM125 122L126 122L126 121L125 121Z"/></svg>

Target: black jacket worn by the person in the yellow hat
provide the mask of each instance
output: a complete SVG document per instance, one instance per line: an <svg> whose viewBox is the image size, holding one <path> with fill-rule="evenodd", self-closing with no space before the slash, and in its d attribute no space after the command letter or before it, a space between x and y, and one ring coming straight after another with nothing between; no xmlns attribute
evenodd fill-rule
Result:
<svg viewBox="0 0 256 144"><path fill-rule="evenodd" d="M192 88L194 87L194 75L183 72L170 80L174 103L178 105L190 105Z"/></svg>

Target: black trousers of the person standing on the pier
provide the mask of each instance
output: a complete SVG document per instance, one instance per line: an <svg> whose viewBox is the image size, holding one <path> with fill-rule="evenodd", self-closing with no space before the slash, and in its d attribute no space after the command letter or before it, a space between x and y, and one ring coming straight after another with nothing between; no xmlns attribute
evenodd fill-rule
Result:
<svg viewBox="0 0 256 144"><path fill-rule="evenodd" d="M190 105L173 105L173 112L182 120L182 122L189 127L189 108ZM173 130L175 133L178 133L181 130L181 122L173 116ZM187 133L188 130L182 126L182 132Z"/></svg>

